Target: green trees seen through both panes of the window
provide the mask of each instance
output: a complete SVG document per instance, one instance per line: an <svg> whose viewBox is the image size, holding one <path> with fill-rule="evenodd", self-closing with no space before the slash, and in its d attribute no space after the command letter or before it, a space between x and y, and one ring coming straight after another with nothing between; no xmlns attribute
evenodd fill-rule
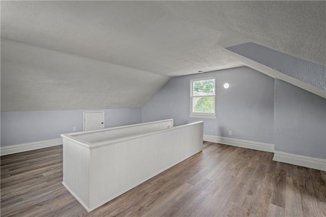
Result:
<svg viewBox="0 0 326 217"><path fill-rule="evenodd" d="M194 80L193 112L215 113L215 79Z"/></svg>

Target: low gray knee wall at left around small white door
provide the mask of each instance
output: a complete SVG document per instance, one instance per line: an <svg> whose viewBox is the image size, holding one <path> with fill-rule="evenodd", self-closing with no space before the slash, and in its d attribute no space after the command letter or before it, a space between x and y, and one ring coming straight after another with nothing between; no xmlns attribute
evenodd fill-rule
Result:
<svg viewBox="0 0 326 217"><path fill-rule="evenodd" d="M141 108L102 109L105 128L142 122ZM83 111L1 112L1 146L60 138L60 134L83 131Z"/></svg>

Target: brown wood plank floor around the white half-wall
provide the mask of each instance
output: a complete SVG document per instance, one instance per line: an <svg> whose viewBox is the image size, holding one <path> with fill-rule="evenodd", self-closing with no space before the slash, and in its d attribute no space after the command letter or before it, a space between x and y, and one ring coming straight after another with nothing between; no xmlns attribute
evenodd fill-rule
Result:
<svg viewBox="0 0 326 217"><path fill-rule="evenodd" d="M1 157L1 216L326 216L326 172L204 142L195 156L87 212L62 185L62 146Z"/></svg>

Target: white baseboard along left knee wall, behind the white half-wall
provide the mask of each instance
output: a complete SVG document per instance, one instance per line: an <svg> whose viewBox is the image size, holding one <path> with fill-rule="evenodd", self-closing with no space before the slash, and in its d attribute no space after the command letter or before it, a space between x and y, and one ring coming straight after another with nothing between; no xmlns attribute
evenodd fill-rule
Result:
<svg viewBox="0 0 326 217"><path fill-rule="evenodd" d="M23 151L31 151L31 150L47 148L56 145L62 145L62 138L44 140L39 142L30 142L30 143L24 143L18 145L3 146L0 148L0 155L5 156L8 154L19 153Z"/></svg>

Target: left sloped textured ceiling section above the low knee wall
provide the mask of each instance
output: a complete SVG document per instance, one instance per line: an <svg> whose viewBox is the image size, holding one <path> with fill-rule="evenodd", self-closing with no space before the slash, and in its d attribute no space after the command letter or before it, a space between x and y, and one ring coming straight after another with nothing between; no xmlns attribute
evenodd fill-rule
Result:
<svg viewBox="0 0 326 217"><path fill-rule="evenodd" d="M13 41L1 42L1 110L142 107L169 77Z"/></svg>

